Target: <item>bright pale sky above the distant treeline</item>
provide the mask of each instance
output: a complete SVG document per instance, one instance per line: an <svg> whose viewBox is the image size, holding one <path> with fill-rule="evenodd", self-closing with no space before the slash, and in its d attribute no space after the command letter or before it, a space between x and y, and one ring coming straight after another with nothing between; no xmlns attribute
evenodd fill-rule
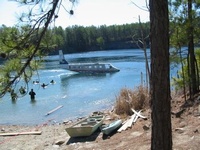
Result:
<svg viewBox="0 0 200 150"><path fill-rule="evenodd" d="M146 9L146 0L79 0L73 5L74 15L69 15L72 8L69 0L63 0L55 25L63 28L73 25L100 26L121 25L149 21L149 12ZM14 26L17 16L24 10L16 2L0 1L0 25ZM68 12L67 12L67 11Z"/></svg>

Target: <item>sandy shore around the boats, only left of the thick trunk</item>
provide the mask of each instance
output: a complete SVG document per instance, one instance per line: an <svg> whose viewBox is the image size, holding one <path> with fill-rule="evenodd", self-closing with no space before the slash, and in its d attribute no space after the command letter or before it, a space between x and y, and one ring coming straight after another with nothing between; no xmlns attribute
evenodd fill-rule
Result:
<svg viewBox="0 0 200 150"><path fill-rule="evenodd" d="M112 116L113 117L113 116ZM112 120L107 115L107 122ZM121 133L113 133L110 136L103 135L100 130L89 137L70 138L65 128L69 124L42 124L39 126L0 126L1 133L24 133L42 131L40 135L15 135L0 136L0 149L6 150L74 150L74 149L130 149L129 146L140 147L141 149L150 148L150 130L144 131L143 125L150 124L148 120L139 119L137 124L133 125ZM137 144L133 141L137 138ZM140 141L141 140L141 141ZM145 144L144 144L145 143ZM137 146L138 145L138 146Z"/></svg>

